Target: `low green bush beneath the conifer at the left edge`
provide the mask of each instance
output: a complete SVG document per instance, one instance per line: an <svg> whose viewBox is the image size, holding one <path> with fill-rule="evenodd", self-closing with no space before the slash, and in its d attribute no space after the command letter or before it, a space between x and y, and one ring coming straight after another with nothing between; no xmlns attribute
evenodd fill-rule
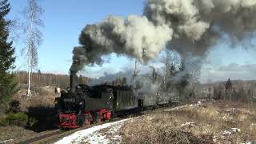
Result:
<svg viewBox="0 0 256 144"><path fill-rule="evenodd" d="M25 127L28 122L28 116L25 113L10 113L6 118L0 120L1 126L23 126Z"/></svg>

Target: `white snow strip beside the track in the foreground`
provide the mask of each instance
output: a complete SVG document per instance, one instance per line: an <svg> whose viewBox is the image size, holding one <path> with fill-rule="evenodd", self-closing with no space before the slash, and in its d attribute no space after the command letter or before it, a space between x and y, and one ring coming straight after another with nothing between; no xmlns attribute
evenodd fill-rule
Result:
<svg viewBox="0 0 256 144"><path fill-rule="evenodd" d="M121 136L119 135L119 129L124 122L133 118L128 118L118 122L106 123L101 126L93 126L86 130L80 130L71 134L65 138L62 138L55 144L65 143L120 143Z"/></svg>

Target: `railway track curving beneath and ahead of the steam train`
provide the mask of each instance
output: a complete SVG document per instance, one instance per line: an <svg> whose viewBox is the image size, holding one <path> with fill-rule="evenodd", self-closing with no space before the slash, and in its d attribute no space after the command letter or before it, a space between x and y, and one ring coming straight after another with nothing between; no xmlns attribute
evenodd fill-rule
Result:
<svg viewBox="0 0 256 144"><path fill-rule="evenodd" d="M176 106L181 106L181 105L176 105ZM144 111L142 111L141 115L151 114L151 113L154 114L154 112L157 113L158 111L166 110L166 109L169 109L169 108L174 108L176 106L164 106L164 107L154 109L154 110L144 110ZM126 116L122 116L121 118L113 118L113 119L108 120L106 122L99 122L99 123L96 123L96 124L91 124L90 126L84 126L84 127L74 129L74 130L60 130L60 129L58 129L58 130L51 130L51 131L47 131L47 132L42 132L40 134L34 135L31 138L21 138L19 140L14 140L11 143L19 143L19 144L49 143L50 140L53 140L54 138L62 138L62 137L65 137L67 135L74 134L75 132L77 132L79 130L85 130L85 129L88 129L90 127L99 126L99 125L102 125L102 124L108 123L108 122L117 122L117 121L120 121L122 119L130 118L130 117L134 117L134 115L126 115Z"/></svg>

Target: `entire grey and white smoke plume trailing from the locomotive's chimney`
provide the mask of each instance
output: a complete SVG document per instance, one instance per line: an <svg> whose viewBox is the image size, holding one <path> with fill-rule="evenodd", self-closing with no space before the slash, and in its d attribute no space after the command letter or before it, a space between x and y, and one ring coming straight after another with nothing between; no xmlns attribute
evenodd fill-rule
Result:
<svg viewBox="0 0 256 144"><path fill-rule="evenodd" d="M70 70L102 64L102 56L113 52L143 63L165 47L182 57L203 58L222 34L235 42L252 34L255 12L254 0L148 0L144 16L109 16L86 26L79 38L81 46L74 48Z"/></svg>

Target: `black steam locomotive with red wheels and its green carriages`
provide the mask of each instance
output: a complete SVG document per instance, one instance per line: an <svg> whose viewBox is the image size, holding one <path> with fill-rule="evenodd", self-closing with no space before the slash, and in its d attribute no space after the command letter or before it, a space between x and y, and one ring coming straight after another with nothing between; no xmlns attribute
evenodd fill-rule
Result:
<svg viewBox="0 0 256 144"><path fill-rule="evenodd" d="M76 82L76 74L70 74L70 89L58 98L56 107L60 128L74 129L178 102L170 97L163 98L159 93L156 96L135 94L131 86L87 86Z"/></svg>

